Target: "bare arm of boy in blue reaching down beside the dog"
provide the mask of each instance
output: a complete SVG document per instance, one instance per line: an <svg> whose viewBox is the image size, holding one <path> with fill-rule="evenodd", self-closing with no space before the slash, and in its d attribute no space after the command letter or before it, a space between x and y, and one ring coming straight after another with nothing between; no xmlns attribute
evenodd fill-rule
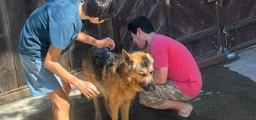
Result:
<svg viewBox="0 0 256 120"><path fill-rule="evenodd" d="M66 71L59 62L57 62L61 52L62 49L50 45L45 57L44 67L53 72L53 74L56 74L56 76L61 80L65 80L66 82L76 86L85 97L93 98L99 95L99 92L92 83L79 80L77 77L69 74L69 72Z"/></svg>

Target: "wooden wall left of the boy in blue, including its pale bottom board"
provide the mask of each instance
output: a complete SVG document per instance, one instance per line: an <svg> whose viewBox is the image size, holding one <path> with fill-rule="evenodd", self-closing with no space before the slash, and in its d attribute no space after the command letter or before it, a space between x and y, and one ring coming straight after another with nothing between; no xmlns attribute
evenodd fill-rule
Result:
<svg viewBox="0 0 256 120"><path fill-rule="evenodd" d="M24 77L17 43L26 19L46 0L0 1L0 105L31 95ZM70 71L68 52L62 64Z"/></svg>

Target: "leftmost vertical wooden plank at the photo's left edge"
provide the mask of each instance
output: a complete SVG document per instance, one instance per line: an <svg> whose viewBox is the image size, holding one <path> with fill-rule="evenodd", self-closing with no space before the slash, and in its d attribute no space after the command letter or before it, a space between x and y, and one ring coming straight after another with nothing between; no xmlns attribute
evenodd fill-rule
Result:
<svg viewBox="0 0 256 120"><path fill-rule="evenodd" d="M0 1L0 48L0 93L3 93L18 87L14 55L3 1Z"/></svg>

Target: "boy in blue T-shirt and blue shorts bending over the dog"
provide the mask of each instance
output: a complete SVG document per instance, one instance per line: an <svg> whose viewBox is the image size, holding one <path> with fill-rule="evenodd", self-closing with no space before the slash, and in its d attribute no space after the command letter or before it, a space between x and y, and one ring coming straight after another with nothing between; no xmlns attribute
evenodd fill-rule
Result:
<svg viewBox="0 0 256 120"><path fill-rule="evenodd" d="M111 38L97 40L84 34L81 20L103 23L115 13L114 0L51 0L32 12L24 24L18 43L24 74L32 96L46 94L50 98L53 119L69 119L69 84L87 98L99 95L92 83L69 74L60 64L59 55L75 40L114 49Z"/></svg>

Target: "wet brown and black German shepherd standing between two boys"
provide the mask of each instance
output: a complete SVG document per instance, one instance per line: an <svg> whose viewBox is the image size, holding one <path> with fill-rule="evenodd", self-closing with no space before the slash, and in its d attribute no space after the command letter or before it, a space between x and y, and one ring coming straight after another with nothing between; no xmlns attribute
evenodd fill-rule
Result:
<svg viewBox="0 0 256 120"><path fill-rule="evenodd" d="M145 47L146 48L146 47ZM93 47L84 53L82 72L84 80L93 83L102 93L102 100L112 120L118 119L120 108L123 120L129 119L130 103L136 92L154 91L153 58L148 48L127 53L110 52L108 47ZM101 120L98 97L93 98L96 120Z"/></svg>

